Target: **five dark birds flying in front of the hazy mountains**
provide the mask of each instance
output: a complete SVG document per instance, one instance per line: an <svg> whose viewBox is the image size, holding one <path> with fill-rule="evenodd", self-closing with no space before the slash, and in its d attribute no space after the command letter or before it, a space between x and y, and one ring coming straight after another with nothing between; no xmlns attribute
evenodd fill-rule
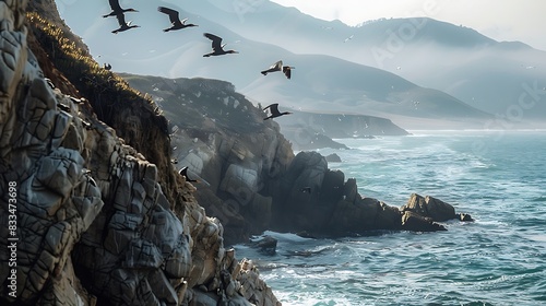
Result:
<svg viewBox="0 0 546 306"><path fill-rule="evenodd" d="M134 9L123 9L119 4L119 0L108 0L110 4L111 12L108 14L103 15L103 17L110 17L110 16L116 16L119 23L119 27L111 31L114 34L118 34L120 32L124 32L131 28L140 27L139 25L131 24L131 22L126 21L126 13L128 12L139 12ZM180 20L180 14L178 11L166 8L166 7L158 7L157 11L161 13L166 14L169 17L170 22L170 27L164 28L164 32L169 32L169 31L177 31L177 30L183 30L187 27L193 27L198 26L197 24L192 23L187 23L188 19ZM216 36L211 33L204 33L204 37L209 38L212 42L212 52L203 55L203 57L211 57L211 56L223 56L223 55L229 55L229 54L238 54L236 50L225 50L225 44L222 44L222 37ZM111 66L106 67L105 69L110 70ZM280 60L272 64L270 68L261 71L263 75L268 75L268 73L271 72L276 72L276 71L282 71L284 75L289 80L292 78L292 70L295 69L295 67L292 66L284 66L283 61ZM289 115L292 113L289 111L283 111L281 113L278 110L278 103L271 104L266 107L263 108L263 110L269 109L270 110L270 116L266 118L263 118L263 120L281 117L284 115Z"/></svg>

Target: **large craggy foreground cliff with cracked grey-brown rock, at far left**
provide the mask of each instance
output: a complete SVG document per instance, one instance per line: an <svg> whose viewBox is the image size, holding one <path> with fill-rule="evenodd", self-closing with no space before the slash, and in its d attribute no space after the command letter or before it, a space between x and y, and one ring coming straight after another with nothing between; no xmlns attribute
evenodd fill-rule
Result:
<svg viewBox="0 0 546 306"><path fill-rule="evenodd" d="M33 2L0 1L2 303L277 304L173 168L155 105L55 24L25 23Z"/></svg>

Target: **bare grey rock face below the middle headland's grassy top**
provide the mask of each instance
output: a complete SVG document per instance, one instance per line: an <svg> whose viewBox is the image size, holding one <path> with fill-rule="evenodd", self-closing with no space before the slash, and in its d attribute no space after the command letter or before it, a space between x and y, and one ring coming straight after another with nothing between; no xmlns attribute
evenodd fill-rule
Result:
<svg viewBox="0 0 546 306"><path fill-rule="evenodd" d="M263 125L262 118L257 119ZM287 161L293 157L289 143L277 131L262 126L256 133L235 137L222 129L203 136L197 130L180 128L173 139L177 143L175 154L182 161L179 167L195 164L191 161L202 162L200 175L210 186L198 184L197 197L207 213L224 225L226 243L246 240L251 233L268 228L272 219L272 197L261 192L284 173ZM191 145L191 152L181 149L186 144Z"/></svg>

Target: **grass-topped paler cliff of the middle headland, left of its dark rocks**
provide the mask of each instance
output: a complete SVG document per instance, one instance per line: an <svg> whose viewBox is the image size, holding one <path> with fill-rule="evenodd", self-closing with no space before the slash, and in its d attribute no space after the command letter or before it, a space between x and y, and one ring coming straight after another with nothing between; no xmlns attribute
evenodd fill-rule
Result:
<svg viewBox="0 0 546 306"><path fill-rule="evenodd" d="M247 242L271 225L272 196L262 196L294 158L273 120L235 87L206 79L123 75L149 93L170 122L173 162L188 167L197 198L225 228L226 243Z"/></svg>

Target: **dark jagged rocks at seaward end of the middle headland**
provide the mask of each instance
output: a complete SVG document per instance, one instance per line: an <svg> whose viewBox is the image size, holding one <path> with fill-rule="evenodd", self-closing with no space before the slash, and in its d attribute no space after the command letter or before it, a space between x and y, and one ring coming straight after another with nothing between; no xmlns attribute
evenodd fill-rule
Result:
<svg viewBox="0 0 546 306"><path fill-rule="evenodd" d="M412 195L400 209L361 197L356 180L345 180L343 172L329 169L325 157L317 152L298 153L271 193L281 195L273 201L274 228L316 235L363 234L372 229L435 232L446 229L438 222L472 220L428 196Z"/></svg>

